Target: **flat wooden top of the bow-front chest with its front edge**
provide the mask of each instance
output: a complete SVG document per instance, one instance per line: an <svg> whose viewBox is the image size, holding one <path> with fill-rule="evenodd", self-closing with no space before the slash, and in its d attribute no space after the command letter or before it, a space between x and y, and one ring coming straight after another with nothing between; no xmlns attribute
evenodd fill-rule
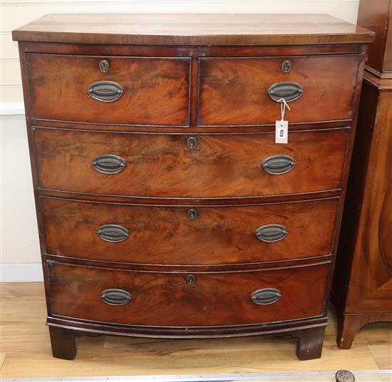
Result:
<svg viewBox="0 0 392 382"><path fill-rule="evenodd" d="M369 43L373 32L326 14L48 14L16 41L135 45Z"/></svg>

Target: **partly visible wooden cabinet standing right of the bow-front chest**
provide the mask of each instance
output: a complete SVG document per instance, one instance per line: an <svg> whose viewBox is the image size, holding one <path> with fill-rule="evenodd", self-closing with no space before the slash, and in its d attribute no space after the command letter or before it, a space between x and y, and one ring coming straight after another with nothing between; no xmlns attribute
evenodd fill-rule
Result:
<svg viewBox="0 0 392 382"><path fill-rule="evenodd" d="M336 260L338 345L392 321L392 2L361 1L359 23L376 31L369 50Z"/></svg>

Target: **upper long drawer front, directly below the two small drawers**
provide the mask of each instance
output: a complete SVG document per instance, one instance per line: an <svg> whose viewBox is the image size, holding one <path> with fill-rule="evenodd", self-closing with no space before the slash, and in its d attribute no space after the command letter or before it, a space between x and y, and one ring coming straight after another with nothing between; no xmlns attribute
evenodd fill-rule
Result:
<svg viewBox="0 0 392 382"><path fill-rule="evenodd" d="M349 130L292 132L288 145L277 145L274 133L190 136L36 128L38 182L53 190L151 197L337 189ZM283 160L269 160L275 155Z"/></svg>

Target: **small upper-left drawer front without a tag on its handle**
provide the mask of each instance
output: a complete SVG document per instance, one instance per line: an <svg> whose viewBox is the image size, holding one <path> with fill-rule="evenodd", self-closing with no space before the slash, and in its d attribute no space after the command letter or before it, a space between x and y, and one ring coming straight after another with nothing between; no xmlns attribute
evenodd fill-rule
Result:
<svg viewBox="0 0 392 382"><path fill-rule="evenodd" d="M31 115L37 118L188 124L189 58L26 54L26 60Z"/></svg>

